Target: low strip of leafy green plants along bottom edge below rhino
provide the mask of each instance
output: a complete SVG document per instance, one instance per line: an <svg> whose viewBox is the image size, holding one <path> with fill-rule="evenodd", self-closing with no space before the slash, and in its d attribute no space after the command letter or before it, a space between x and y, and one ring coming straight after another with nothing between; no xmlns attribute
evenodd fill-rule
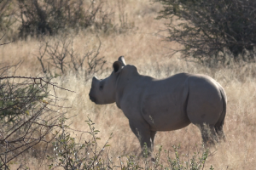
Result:
<svg viewBox="0 0 256 170"><path fill-rule="evenodd" d="M122 170L130 169L147 169L147 170L203 170L207 163L207 158L212 156L212 153L209 150L206 150L204 146L200 150L197 150L193 153L192 156L189 156L189 153L186 155L179 154L180 146L173 145L173 151L164 150L162 146L159 147L157 153L154 155L154 158L150 158L147 154L147 151L144 151L143 159L142 156L119 156L119 167ZM163 154L164 153L164 154ZM174 157L171 154L174 153ZM167 162L163 161L166 160ZM214 168L209 168L213 170Z"/></svg>

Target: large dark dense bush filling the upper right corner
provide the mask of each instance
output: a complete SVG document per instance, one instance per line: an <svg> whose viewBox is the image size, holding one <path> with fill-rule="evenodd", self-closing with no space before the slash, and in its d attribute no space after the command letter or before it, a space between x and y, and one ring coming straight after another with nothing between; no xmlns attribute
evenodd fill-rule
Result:
<svg viewBox="0 0 256 170"><path fill-rule="evenodd" d="M158 19L169 20L166 40L184 58L227 63L228 58L254 61L256 2L253 0L155 0L163 4ZM175 22L174 22L175 21Z"/></svg>

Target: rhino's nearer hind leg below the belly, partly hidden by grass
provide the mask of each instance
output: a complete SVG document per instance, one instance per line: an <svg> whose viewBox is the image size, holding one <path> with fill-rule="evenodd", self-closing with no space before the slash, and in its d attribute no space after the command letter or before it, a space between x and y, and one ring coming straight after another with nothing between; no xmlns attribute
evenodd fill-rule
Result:
<svg viewBox="0 0 256 170"><path fill-rule="evenodd" d="M201 130L201 137L203 139L203 143L206 144L207 147L218 143L218 135L213 126L203 124L203 125L200 125L199 127Z"/></svg>

